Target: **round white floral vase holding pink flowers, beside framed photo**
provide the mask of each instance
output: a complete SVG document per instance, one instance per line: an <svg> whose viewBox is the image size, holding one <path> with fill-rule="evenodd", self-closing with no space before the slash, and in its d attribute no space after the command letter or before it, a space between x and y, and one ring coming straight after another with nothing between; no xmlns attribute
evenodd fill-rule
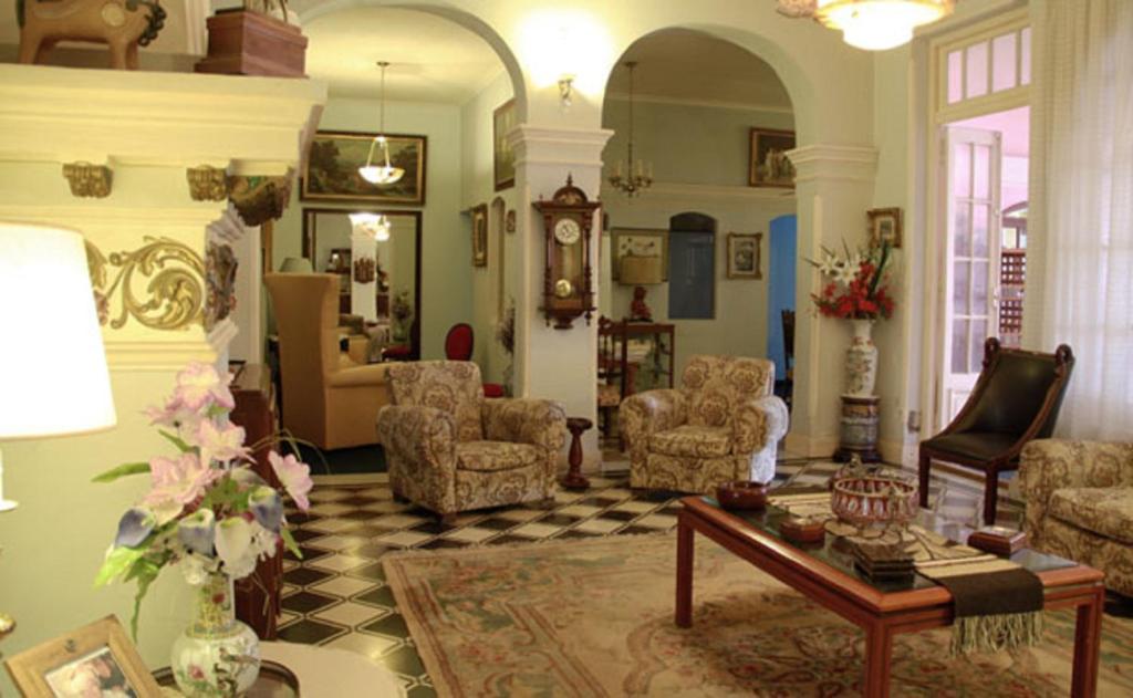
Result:
<svg viewBox="0 0 1133 698"><path fill-rule="evenodd" d="M231 577L207 573L195 593L193 622L170 656L177 688L189 698L240 696L259 675L259 638L236 620Z"/></svg>

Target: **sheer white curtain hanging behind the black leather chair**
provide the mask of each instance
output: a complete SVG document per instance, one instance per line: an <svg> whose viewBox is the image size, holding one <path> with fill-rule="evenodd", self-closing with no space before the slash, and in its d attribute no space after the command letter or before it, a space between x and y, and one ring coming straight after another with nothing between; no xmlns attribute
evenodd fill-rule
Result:
<svg viewBox="0 0 1133 698"><path fill-rule="evenodd" d="M1031 337L1077 357L1058 435L1131 441L1133 0L1032 8Z"/></svg>

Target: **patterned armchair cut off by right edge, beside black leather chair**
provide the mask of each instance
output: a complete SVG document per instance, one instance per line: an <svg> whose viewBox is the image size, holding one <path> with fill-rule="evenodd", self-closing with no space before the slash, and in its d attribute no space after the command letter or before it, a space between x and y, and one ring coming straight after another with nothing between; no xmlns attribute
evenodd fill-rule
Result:
<svg viewBox="0 0 1133 698"><path fill-rule="evenodd" d="M1133 596L1133 443L1032 441L1019 478L1030 545L1097 568Z"/></svg>

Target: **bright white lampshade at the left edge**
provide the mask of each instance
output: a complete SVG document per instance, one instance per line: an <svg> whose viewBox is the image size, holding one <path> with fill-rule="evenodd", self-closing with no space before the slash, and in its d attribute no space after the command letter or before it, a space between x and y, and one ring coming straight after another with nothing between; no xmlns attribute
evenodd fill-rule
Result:
<svg viewBox="0 0 1133 698"><path fill-rule="evenodd" d="M0 222L0 440L114 426L83 236Z"/></svg>

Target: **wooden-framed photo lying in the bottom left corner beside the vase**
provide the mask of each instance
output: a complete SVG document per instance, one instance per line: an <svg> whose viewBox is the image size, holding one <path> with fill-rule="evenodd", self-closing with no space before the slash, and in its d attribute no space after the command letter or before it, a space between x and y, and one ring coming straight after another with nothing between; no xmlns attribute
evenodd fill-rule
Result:
<svg viewBox="0 0 1133 698"><path fill-rule="evenodd" d="M25 696L162 696L113 615L26 649L5 664Z"/></svg>

